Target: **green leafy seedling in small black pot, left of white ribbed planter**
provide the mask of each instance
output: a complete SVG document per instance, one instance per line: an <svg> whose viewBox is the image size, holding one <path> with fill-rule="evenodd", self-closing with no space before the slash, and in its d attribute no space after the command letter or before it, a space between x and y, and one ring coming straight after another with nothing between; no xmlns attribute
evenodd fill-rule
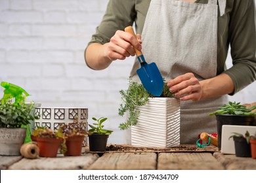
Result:
<svg viewBox="0 0 256 183"><path fill-rule="evenodd" d="M106 150L106 144L108 142L109 135L113 132L109 129L104 129L103 122L105 122L108 118L92 118L96 121L93 125L89 124L91 129L88 130L89 137L89 150L93 152L104 152Z"/></svg>

